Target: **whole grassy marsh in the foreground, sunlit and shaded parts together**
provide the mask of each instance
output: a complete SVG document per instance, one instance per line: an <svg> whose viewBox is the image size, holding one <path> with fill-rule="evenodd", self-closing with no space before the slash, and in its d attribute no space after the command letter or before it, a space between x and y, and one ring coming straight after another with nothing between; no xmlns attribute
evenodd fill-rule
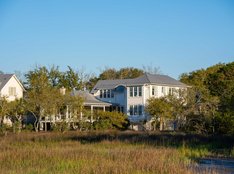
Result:
<svg viewBox="0 0 234 174"><path fill-rule="evenodd" d="M196 158L232 153L232 138L218 139L225 146L212 140L113 131L11 134L0 137L0 173L197 173Z"/></svg>

